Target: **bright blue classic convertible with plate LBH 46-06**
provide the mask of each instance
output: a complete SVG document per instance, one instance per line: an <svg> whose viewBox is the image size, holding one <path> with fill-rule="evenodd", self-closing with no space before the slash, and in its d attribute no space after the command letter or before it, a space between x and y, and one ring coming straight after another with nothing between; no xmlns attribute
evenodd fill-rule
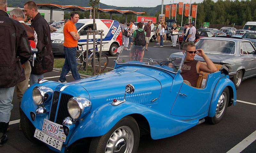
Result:
<svg viewBox="0 0 256 153"><path fill-rule="evenodd" d="M119 47L115 69L61 84L39 80L25 92L20 123L34 143L56 152L88 146L90 153L135 153L140 135L177 135L207 119L220 122L236 104L236 89L226 69L183 82L182 58L145 53L143 62ZM136 55L136 54L134 54ZM86 152L86 151L84 151Z"/></svg>

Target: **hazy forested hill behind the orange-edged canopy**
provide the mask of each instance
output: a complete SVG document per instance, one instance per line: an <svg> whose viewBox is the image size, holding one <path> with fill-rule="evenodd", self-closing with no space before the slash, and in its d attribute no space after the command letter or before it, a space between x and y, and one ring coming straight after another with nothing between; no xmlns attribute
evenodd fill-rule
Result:
<svg viewBox="0 0 256 153"><path fill-rule="evenodd" d="M23 5L27 2L28 0L7 0L8 2L8 7L20 7L23 8ZM41 3L41 4L59 4L59 5L78 5L78 6L83 6L83 7L90 7L89 0L36 0L36 3ZM112 6L112 5L106 5L100 3L100 8L103 9L118 9L118 10L132 10L132 11L138 11L138 12L143 12L147 11L147 14L150 16L154 16L157 11L161 9L161 5L158 5L156 7L117 7L117 6Z"/></svg>

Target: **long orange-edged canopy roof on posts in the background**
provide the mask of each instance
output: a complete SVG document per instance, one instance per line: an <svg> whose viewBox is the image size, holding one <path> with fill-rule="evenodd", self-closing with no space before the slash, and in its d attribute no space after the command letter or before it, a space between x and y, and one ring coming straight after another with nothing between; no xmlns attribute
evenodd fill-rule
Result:
<svg viewBox="0 0 256 153"><path fill-rule="evenodd" d="M37 7L40 9L49 9L50 10L50 20L52 21L52 10L61 9L61 10L69 10L69 11L89 11L91 7L81 7L77 5L57 5L57 4L37 4ZM136 12L131 10L116 10L116 9L98 9L98 12L110 13L110 19L112 19L112 14L124 14L125 15L125 23L127 22L127 15L140 15L145 12Z"/></svg>

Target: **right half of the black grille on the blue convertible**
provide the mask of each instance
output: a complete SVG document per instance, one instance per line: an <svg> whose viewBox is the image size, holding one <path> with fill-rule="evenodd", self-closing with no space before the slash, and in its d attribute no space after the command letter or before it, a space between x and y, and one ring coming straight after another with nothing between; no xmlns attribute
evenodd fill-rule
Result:
<svg viewBox="0 0 256 153"><path fill-rule="evenodd" d="M56 122L57 124L62 125L63 120L69 116L68 114L68 100L73 96L67 94L61 94L60 96L60 104L58 108Z"/></svg>

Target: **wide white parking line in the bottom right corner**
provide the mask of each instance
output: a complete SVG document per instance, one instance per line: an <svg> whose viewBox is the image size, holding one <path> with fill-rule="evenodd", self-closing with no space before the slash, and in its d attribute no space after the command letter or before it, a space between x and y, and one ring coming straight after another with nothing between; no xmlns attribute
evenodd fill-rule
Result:
<svg viewBox="0 0 256 153"><path fill-rule="evenodd" d="M235 147L230 149L227 153L240 153L255 140L256 140L256 131L254 131L251 135L247 136L243 141L238 143Z"/></svg>

